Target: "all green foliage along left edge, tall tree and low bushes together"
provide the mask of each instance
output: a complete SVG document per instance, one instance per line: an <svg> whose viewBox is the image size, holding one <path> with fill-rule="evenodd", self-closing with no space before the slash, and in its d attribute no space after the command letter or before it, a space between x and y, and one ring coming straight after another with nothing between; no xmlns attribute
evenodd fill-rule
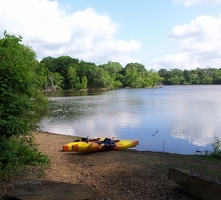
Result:
<svg viewBox="0 0 221 200"><path fill-rule="evenodd" d="M6 32L0 39L0 183L27 165L50 161L37 150L29 134L37 113L47 110L48 102L40 91L47 70L21 42L20 36Z"/></svg>

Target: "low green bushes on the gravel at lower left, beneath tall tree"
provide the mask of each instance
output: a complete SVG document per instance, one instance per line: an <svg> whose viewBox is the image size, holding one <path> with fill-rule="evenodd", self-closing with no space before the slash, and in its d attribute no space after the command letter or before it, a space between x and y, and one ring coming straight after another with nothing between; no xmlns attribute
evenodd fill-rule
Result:
<svg viewBox="0 0 221 200"><path fill-rule="evenodd" d="M31 135L0 139L0 182L8 181L28 165L50 163L50 158L37 150Z"/></svg>

